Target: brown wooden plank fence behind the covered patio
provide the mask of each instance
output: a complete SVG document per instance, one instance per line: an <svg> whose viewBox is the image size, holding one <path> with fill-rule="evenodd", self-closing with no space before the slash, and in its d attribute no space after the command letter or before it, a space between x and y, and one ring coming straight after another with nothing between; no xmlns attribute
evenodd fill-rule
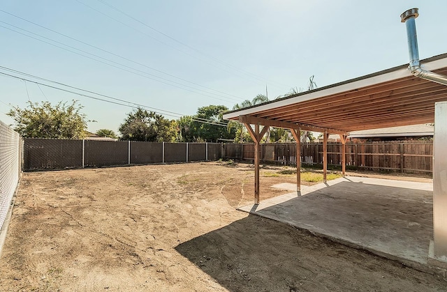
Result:
<svg viewBox="0 0 447 292"><path fill-rule="evenodd" d="M295 143L261 144L261 162L296 165ZM254 160L254 144L224 144L224 158ZM400 172L432 172L432 141L346 143L346 166ZM323 164L323 143L301 144L304 165ZM342 164L342 144L328 142L328 165Z"/></svg>

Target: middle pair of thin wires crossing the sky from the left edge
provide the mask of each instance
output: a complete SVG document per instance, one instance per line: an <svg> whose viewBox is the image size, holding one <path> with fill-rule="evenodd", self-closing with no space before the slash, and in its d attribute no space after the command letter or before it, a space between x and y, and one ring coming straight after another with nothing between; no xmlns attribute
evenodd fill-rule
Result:
<svg viewBox="0 0 447 292"><path fill-rule="evenodd" d="M54 45L53 43L49 43L49 42L47 42L47 41L45 41L45 40L41 40L41 39L39 39L39 38L35 38L35 37L33 37L33 36L29 36L29 35L27 35L26 33L21 33L20 31L16 31L15 29L10 29L10 28L8 28L8 27L6 27L6 26L0 25L0 27L3 27L3 29L8 29L8 30L10 30L10 31L14 31L15 33L20 33L20 34L22 34L23 36L27 36L27 37L29 37L29 38L33 38L34 40L39 40L39 41L41 41L41 42L43 42L43 43L47 43L48 45L52 45L52 46L54 46L54 47L58 47L59 49L64 49L64 50L66 50L66 51L68 51L68 52L72 52L72 53L74 53L74 54L78 54L78 55L80 55L80 56L84 56L84 57L86 57L86 58L88 58L88 59L97 61L97 62L99 62L99 63L103 63L103 64L106 64L106 65L108 65L108 66L112 66L112 67L118 68L118 69L120 69L120 70L124 70L124 71L126 71L126 72L131 72L131 73L133 73L133 74L135 74L135 75L139 75L139 76L141 76L141 77L145 77L145 78L147 78L147 79L152 79L152 80L154 80L154 81L156 81L156 82L161 82L161 83L163 83L163 84L168 84L168 85L170 85L170 86L174 86L174 87L177 87L177 88L179 88L179 89L183 89L183 90L186 90L186 91L191 91L191 92L193 92L193 93L197 93L197 94L200 94L200 95L204 95L204 96L207 96L207 97L209 97L209 98L214 98L214 99L216 99L216 100L221 100L221 101L224 101L224 102L230 102L229 100L223 100L223 99L221 99L221 98L216 98L216 97L214 97L214 96L212 96L212 95L208 95L208 94L200 93L200 92L197 92L197 91L203 91L203 92L205 92L205 93L214 94L214 95L220 96L220 97L222 97L222 98L227 98L227 99L229 99L229 98L226 97L226 96L219 95L219 94L217 94L217 93L210 93L210 92L208 92L208 91L204 91L204 90L202 90L202 89L196 89L195 87L192 87L192 86L189 86L189 85L186 85L186 84L181 84L181 83L179 83L179 82L175 82L175 81L172 81L172 80L163 78L163 77L159 77L159 76L157 76L157 75L153 75L153 74L151 74L151 73L148 73L148 72L145 72L145 71L142 71L142 70L138 70L138 69L132 68L132 67L130 67L130 66L126 66L126 65L124 65L124 64L122 64L122 63L118 63L118 62L112 61L112 60L110 60L110 59L103 58L103 57L98 56L98 55L96 55L96 54L91 54L91 53L86 52L86 51L84 51L84 50L82 50L82 49L75 48L75 47L73 47L73 46L71 46L71 45L66 45L66 44L61 43L61 42L59 42L59 41L57 41L57 40L53 40L52 38L47 38L47 37L45 37L45 36L41 36L41 35L39 35L39 34L37 34L37 33L33 33L32 31L28 31L28 30L26 30L26 29L22 29L22 28L20 28L20 27L18 27L18 26L15 26L15 25L13 25L13 24L8 24L7 22L3 22L3 21L1 21L1 20L0 20L0 22L1 22L1 23L4 23L4 24L7 24L7 25L9 25L9 26L13 26L13 27L15 27L15 28L17 28L17 29L20 29L20 30L22 30L22 31L26 31L27 33L31 33L31 34L33 34L33 35L35 35L35 36L40 37L40 38L45 38L45 39L50 40L50 41L52 41L52 42L54 42L54 43L58 43L58 44L60 44L60 45L64 45L64 46L66 46L66 47L70 47L71 49L78 50L78 51L83 52L83 53L85 53L85 54L89 54L89 55L91 55L91 56L95 56L96 58L103 59L103 60L108 61L108 62L111 62L111 63L115 63L115 64L117 64L117 65L119 65L119 66L123 66L123 67L125 67L125 68L129 68L129 69L131 69L131 70L135 70L135 71L137 71L137 72L133 72L133 71L131 71L131 70L126 70L125 68L122 68L122 67L119 67L119 66L115 66L115 65L112 65L112 64L110 64L110 63L107 63L107 62L104 62L104 61L100 61L100 60L98 60L98 59L94 59L94 58L92 58L92 57L90 57L90 56L86 56L85 54L80 54L80 53L78 53L78 52L73 52L71 49L66 49L65 47L60 47L59 45ZM145 76L145 75L139 74L138 72L142 72L143 74L146 74L146 75L149 75L149 76L153 76L153 77L159 78L159 79L161 79L161 80L165 80L166 82L163 82L163 81L161 81L161 80L159 80L159 79L154 79L153 77L149 77L149 76ZM170 84L170 83L168 83L168 82L171 82L171 83L173 83L173 84ZM174 84L178 84L178 85L180 85L180 86L189 87L189 88L194 89L194 90L196 90L196 91L192 91L192 90L190 90L190 89L185 89L185 88L183 88L183 87L176 86L176 85L174 85ZM233 98L231 98L231 99L233 99Z"/></svg>

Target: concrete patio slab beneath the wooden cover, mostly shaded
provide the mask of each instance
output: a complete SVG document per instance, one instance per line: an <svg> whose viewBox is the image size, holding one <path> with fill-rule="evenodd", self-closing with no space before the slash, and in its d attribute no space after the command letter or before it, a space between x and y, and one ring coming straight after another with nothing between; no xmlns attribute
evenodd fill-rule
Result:
<svg viewBox="0 0 447 292"><path fill-rule="evenodd" d="M274 185L284 190L293 184ZM426 264L432 183L346 176L239 208L403 263Z"/></svg>

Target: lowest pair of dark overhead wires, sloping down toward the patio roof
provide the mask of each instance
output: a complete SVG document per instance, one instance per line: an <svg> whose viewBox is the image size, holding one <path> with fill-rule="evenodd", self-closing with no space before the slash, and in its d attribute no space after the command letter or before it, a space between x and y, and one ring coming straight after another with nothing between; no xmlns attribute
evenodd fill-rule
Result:
<svg viewBox="0 0 447 292"><path fill-rule="evenodd" d="M1 68L3 68L3 69L6 69L6 70L12 70L12 71L15 71L15 72L20 72L20 71L17 71L17 70L13 70L13 69L9 69L9 68L6 68L6 67L3 67L3 66L0 66ZM0 72L0 74L1 75L5 75L5 76L7 76L7 77L13 77L13 78L15 78L15 79L20 79L20 80L22 80L22 81L27 81L27 82L31 82L31 83L34 83L34 84L38 84L38 85L42 85L42 86L47 86L47 87L49 87L49 88L52 88L52 89L57 89L57 90L59 90L59 91L65 91L65 92L67 92L67 93L72 93L72 94L75 94L75 95L80 95L80 96L84 96L84 97L86 97L86 98L91 98L91 99L94 99L94 100L100 100L100 101L103 101L103 102L109 102L109 103L112 103L112 104L115 104L115 105L122 105L122 106L125 106L125 107L131 107L131 108L138 108L138 107L142 107L142 108L147 108L147 109L151 109L152 110L152 112L156 112L156 114L165 114L166 116L173 116L173 117L175 117L175 118L179 118L179 117L182 117L182 116L184 116L184 115L182 115L182 114L177 114L177 113L175 113L175 112L169 112L169 111L165 111L165 110L163 110L163 109L156 109L156 108L154 108L154 107L148 107L148 106L146 106L146 105L140 105L140 104L138 104L138 103L135 103L135 102L130 102L130 101L127 101L127 100L122 100L122 99L119 99L119 98L112 98L111 96L108 96L108 95L102 95L102 94L100 94L100 93L94 93L94 91L87 91L87 90L84 90L84 89L78 89L78 88L76 88L76 87L74 87L74 86L69 86L69 85L66 85L66 84L61 84L61 83L59 83L59 82L54 82L55 84L59 84L59 85L63 85L63 86L67 86L68 88L71 88L71 89L78 89L78 90L80 90L80 91L85 91L85 92L89 92L89 93L94 93L94 94L96 94L96 95L100 95L100 96L103 96L103 97L107 97L107 98L110 98L110 99L112 99L112 100L105 100L105 99L103 99L103 98L96 98L96 97L94 97L94 96L91 96L91 95L87 95L87 94L83 94L83 93L78 93L78 92L75 92L75 91L71 91L71 90L67 90L67 89L62 89L62 88L60 88L60 87L57 87L57 86L51 86L51 85L49 85L49 84L43 84L43 83L41 83L41 82L36 82L36 81L34 81L34 80L31 80L31 79L26 79L26 78L24 78L24 77L19 77L19 76L15 76L15 75L10 75L10 74L8 74L8 73L5 73L5 72ZM27 73L24 73L24 75L27 75ZM32 76L32 75L31 75ZM40 78L40 77L38 77L38 78ZM43 79L43 78L42 78ZM45 79L45 80L48 80L48 79ZM48 80L49 82L52 82L51 80ZM164 112L164 113L163 113ZM223 126L223 127L227 127L228 125L226 124L226 123L221 123L221 122L219 122L219 121L212 121L212 120L207 120L207 119L205 119L205 118L193 118L193 117L191 117L191 121L196 121L196 122L198 122L198 123L207 123L207 124L211 124L211 125L219 125L219 126Z"/></svg>

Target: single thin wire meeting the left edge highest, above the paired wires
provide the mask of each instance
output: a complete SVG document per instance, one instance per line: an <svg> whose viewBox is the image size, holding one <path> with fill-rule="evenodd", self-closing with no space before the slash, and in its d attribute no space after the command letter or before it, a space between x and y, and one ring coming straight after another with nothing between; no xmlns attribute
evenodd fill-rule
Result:
<svg viewBox="0 0 447 292"><path fill-rule="evenodd" d="M187 79L184 79L184 78L182 78L182 77L177 77L177 76L172 75L172 74L170 74L170 73L163 72L163 71L158 70L158 69L156 69L156 68L147 66L147 65L145 65L145 64L143 64L143 63L140 63L140 62L138 62L138 61L133 61L133 60L128 59L128 58L126 58L126 57L124 57L124 56L120 56L119 54L115 54L115 53L110 52L110 51L108 51L108 50L106 50L106 49L102 49L101 47L96 47L95 45L91 45L91 44L89 44L89 43L85 43L85 42L82 41L82 40L78 40L77 38L73 38L73 37L71 37L71 36L67 36L67 35L64 34L64 33L60 33L59 31L54 31L53 29L49 29L49 28L47 28L47 27L45 27L45 26L42 26L41 24L37 24L36 22L31 22L30 20L26 20L26 19L24 19L23 17L14 15L13 13L8 13L8 12L5 11L5 10L1 10L1 9L0 9L0 11L3 12L3 13L6 13L6 14L8 14L8 15L11 15L11 16L13 16L13 17L16 17L16 18L18 18L18 19L20 19L20 20L23 20L24 22L28 22L28 23L34 24L34 25L36 25L36 26L39 26L39 27L41 27L42 29L46 29L47 31L51 31L51 32L53 32L53 33L57 33L59 36L64 36L64 37L69 38L69 39L71 39L71 40L75 40L75 41L78 42L78 43L82 43L82 44L87 45L87 46L89 46L89 47L93 47L93 48L98 49L98 50L100 50L100 51L102 51L102 52L105 52L105 53L107 53L107 54L111 54L112 56L117 56L117 57L120 58L120 59L124 59L124 60L126 60L126 61L135 63L135 64L137 64L137 65L143 66L143 67L148 68L148 69L150 69L150 70L154 70L154 71L156 71L156 72L160 72L160 73L162 73L162 74L164 74L164 75L168 75L168 76L170 76L170 77L174 77L174 78L176 78L176 79L182 80L182 81L184 81L184 82L188 82L188 83L191 83L191 84L194 84L194 85L203 87L203 88L205 88L205 89L209 89L209 90L212 90L212 91L216 91L216 92L219 92L219 93L223 93L223 94L225 94L225 95L230 95L230 96L233 96L233 97L235 97L235 98L238 98L238 99L243 100L243 98L241 98L240 96L233 95L233 94L230 94L230 93L225 93L225 92L223 92L223 91L218 91L218 90L216 90L216 89L212 89L212 88L210 88L210 87L203 86L203 85L198 84L198 83L196 83L196 82L191 82L191 81L189 81L189 80L187 80ZM6 22L3 22L3 23L6 23ZM8 24L8 23L6 23L6 24ZM8 24L8 25L11 25L11 24ZM11 25L11 26L12 26L12 25ZM20 28L17 27L17 26L14 26L14 27L20 29ZM237 101L237 100L236 100L236 101Z"/></svg>

